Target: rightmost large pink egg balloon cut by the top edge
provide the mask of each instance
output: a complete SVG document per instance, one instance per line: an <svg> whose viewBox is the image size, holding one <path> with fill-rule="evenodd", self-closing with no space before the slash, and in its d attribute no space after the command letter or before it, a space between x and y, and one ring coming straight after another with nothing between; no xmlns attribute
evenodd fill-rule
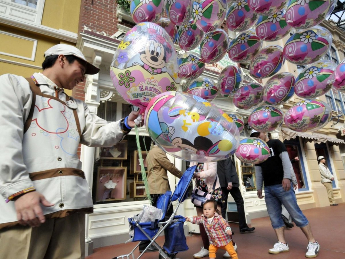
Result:
<svg viewBox="0 0 345 259"><path fill-rule="evenodd" d="M286 7L286 22L296 29L307 29L322 22L331 0L289 0Z"/></svg>

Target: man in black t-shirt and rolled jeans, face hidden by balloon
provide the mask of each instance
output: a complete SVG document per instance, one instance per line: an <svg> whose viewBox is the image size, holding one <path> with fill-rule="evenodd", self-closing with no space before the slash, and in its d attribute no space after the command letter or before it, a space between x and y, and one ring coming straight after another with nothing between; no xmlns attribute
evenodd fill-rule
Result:
<svg viewBox="0 0 345 259"><path fill-rule="evenodd" d="M265 141L270 151L266 161L255 165L257 195L260 199L264 198L262 195L264 184L267 212L278 238L278 242L268 252L277 254L289 251L284 238L284 221L281 216L283 204L296 226L301 228L309 241L308 251L305 256L307 258L316 257L320 246L315 241L307 218L297 205L296 195L291 183L292 164L284 143L280 140L269 140L266 133L255 130L252 131L250 137L258 137Z"/></svg>

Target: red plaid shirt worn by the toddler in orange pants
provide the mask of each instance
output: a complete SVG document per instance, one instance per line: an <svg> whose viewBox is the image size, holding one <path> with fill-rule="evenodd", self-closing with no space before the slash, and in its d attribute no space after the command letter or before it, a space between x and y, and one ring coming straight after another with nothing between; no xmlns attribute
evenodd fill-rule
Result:
<svg viewBox="0 0 345 259"><path fill-rule="evenodd" d="M230 226L217 212L215 213L215 217L211 223L208 223L207 218L204 217L204 215L193 217L191 223L204 224L208 240L210 244L213 244L214 246L223 247L231 241L231 237L225 232L225 229L230 228Z"/></svg>

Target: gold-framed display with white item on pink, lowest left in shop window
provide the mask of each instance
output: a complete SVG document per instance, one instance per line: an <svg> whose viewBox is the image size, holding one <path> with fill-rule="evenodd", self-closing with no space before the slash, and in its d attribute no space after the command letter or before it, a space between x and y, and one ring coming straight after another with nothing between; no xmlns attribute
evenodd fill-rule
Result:
<svg viewBox="0 0 345 259"><path fill-rule="evenodd" d="M98 167L96 202L126 199L127 167Z"/></svg>

